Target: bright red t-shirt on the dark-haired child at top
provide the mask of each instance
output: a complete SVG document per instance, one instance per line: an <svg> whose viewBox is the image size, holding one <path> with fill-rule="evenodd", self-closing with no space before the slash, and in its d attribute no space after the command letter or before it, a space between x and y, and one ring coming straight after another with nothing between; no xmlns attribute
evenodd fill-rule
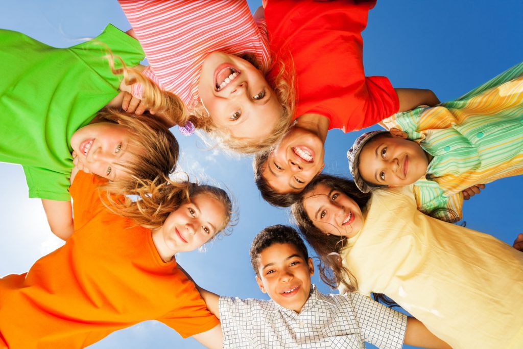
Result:
<svg viewBox="0 0 523 349"><path fill-rule="evenodd" d="M399 100L389 79L365 76L363 70L361 31L375 3L268 1L270 48L287 67L294 64L298 88L294 118L321 114L331 120L329 129L349 132L398 111ZM276 66L270 76L278 71Z"/></svg>

